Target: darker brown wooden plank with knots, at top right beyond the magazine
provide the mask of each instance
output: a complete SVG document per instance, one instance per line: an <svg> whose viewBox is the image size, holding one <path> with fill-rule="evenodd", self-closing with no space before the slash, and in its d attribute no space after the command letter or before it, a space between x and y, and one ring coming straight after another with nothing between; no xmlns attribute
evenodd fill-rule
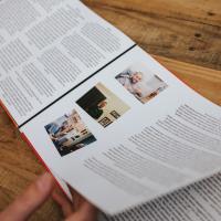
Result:
<svg viewBox="0 0 221 221"><path fill-rule="evenodd" d="M220 0L84 0L147 52L221 70Z"/></svg>

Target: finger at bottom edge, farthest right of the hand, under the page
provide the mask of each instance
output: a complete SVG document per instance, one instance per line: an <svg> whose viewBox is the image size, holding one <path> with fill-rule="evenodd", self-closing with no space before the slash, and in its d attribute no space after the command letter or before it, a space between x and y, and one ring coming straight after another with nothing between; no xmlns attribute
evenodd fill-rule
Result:
<svg viewBox="0 0 221 221"><path fill-rule="evenodd" d="M96 221L97 209L90 202L84 202L78 211L73 213L66 221Z"/></svg>

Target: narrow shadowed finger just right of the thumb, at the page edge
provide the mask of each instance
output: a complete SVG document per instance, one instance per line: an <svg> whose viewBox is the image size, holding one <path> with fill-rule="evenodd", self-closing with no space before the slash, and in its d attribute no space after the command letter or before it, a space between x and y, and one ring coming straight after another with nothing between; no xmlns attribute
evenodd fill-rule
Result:
<svg viewBox="0 0 221 221"><path fill-rule="evenodd" d="M65 218L73 213L73 204L62 191L55 190L52 193L52 198L62 208Z"/></svg>

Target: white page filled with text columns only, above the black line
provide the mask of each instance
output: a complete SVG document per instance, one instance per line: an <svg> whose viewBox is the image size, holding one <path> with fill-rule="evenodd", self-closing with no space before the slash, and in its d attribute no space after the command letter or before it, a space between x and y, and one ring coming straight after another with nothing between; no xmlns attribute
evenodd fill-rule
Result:
<svg viewBox="0 0 221 221"><path fill-rule="evenodd" d="M0 99L18 126L134 42L77 0L0 1Z"/></svg>

